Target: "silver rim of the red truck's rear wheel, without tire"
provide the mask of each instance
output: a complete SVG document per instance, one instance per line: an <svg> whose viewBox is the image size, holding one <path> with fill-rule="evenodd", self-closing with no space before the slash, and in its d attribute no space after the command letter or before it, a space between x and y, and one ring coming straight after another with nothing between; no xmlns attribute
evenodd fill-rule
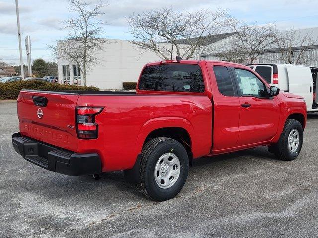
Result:
<svg viewBox="0 0 318 238"><path fill-rule="evenodd" d="M172 187L180 176L180 160L174 153L163 154L156 163L154 177L160 188Z"/></svg>

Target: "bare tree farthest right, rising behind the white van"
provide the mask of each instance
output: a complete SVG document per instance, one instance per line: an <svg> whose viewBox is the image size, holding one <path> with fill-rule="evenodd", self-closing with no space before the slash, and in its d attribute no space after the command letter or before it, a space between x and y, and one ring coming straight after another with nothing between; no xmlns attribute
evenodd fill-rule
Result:
<svg viewBox="0 0 318 238"><path fill-rule="evenodd" d="M295 31L294 29L279 32L277 28L273 28L272 37L275 48L278 48L280 53L277 60L283 60L287 64L304 64L313 60L311 54L306 54L314 45L318 44L318 39L314 38L312 34L309 31Z"/></svg>

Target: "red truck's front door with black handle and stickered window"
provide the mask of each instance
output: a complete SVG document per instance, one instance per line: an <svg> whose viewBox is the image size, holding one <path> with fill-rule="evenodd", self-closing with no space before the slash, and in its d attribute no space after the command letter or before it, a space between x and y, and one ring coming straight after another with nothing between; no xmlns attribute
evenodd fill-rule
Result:
<svg viewBox="0 0 318 238"><path fill-rule="evenodd" d="M240 101L239 139L236 146L269 141L276 135L280 115L277 97L269 97L264 79L252 70L232 68Z"/></svg>

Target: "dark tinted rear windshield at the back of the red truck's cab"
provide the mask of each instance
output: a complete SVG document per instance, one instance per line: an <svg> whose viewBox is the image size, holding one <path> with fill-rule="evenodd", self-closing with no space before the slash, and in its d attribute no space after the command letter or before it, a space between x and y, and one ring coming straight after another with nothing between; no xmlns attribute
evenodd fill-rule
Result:
<svg viewBox="0 0 318 238"><path fill-rule="evenodd" d="M149 91L203 93L202 71L196 64L160 64L144 68L138 88Z"/></svg>

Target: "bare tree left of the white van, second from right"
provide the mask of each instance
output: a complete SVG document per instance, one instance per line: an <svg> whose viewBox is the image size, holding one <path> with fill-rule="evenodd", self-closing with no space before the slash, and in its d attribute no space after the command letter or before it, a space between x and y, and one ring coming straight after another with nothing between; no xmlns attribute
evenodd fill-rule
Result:
<svg viewBox="0 0 318 238"><path fill-rule="evenodd" d="M233 35L233 47L240 49L243 54L248 56L248 63L257 60L257 57L273 43L272 24L258 25L253 23L247 25L232 21L230 27L236 32Z"/></svg>

